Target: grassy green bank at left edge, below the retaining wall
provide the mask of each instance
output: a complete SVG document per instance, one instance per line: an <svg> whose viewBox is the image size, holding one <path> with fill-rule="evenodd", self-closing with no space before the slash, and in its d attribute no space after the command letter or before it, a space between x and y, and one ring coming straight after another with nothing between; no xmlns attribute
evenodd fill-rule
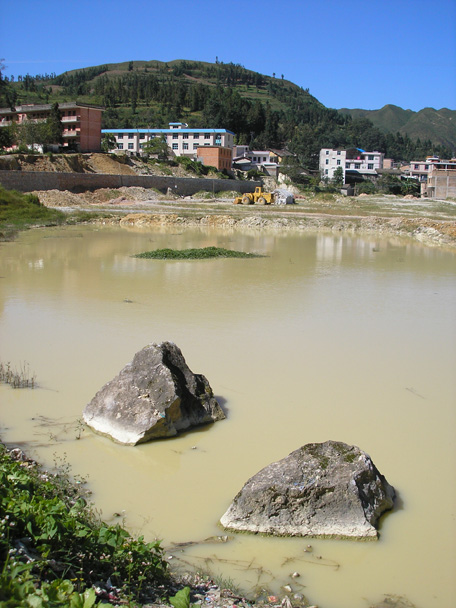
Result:
<svg viewBox="0 0 456 608"><path fill-rule="evenodd" d="M30 226L63 224L62 211L49 209L34 194L22 194L0 186L0 240L8 240L18 230Z"/></svg>

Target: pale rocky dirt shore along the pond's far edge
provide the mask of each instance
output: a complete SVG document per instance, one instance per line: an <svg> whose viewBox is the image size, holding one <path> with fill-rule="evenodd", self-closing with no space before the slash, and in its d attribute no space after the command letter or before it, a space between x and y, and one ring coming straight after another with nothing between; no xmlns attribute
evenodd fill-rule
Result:
<svg viewBox="0 0 456 608"><path fill-rule="evenodd" d="M298 197L296 205L277 207L233 205L233 199L228 197L170 197L137 187L79 194L57 190L34 194L48 207L86 211L94 215L93 221L102 224L405 237L426 246L456 249L456 204L452 201L400 197L347 200L335 195L329 202L318 197Z"/></svg>

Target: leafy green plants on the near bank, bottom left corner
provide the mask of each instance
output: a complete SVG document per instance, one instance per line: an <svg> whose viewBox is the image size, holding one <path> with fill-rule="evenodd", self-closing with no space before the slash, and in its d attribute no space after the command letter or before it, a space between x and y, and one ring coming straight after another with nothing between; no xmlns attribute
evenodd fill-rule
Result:
<svg viewBox="0 0 456 608"><path fill-rule="evenodd" d="M103 523L83 485L16 452L0 444L0 604L90 608L160 597L168 580L160 543Z"/></svg>

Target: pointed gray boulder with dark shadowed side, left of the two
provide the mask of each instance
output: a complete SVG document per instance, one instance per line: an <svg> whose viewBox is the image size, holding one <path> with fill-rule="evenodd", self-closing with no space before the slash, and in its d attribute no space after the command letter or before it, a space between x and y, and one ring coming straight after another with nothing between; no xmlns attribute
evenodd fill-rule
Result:
<svg viewBox="0 0 456 608"><path fill-rule="evenodd" d="M83 413L97 433L136 445L171 437L225 415L205 376L194 374L172 342L150 344L101 388Z"/></svg>

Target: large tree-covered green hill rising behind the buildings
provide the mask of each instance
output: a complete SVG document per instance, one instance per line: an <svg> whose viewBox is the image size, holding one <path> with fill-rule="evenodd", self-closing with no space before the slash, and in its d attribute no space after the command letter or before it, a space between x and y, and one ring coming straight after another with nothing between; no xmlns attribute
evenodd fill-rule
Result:
<svg viewBox="0 0 456 608"><path fill-rule="evenodd" d="M256 149L287 148L301 165L318 168L322 147L357 146L395 160L442 157L456 149L407 134L384 132L364 116L326 108L308 89L233 63L130 61L60 75L3 79L0 105L74 101L106 108L104 128L225 128Z"/></svg>

